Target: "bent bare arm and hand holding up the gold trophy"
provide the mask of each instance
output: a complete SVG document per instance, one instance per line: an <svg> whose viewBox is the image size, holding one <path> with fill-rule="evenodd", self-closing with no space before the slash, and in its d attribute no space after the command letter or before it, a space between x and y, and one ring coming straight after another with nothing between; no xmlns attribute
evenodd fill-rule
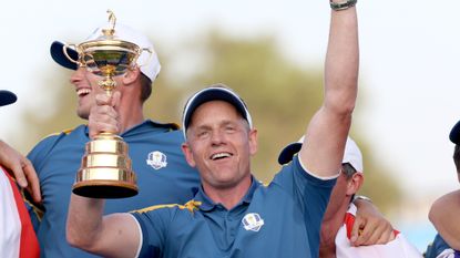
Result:
<svg viewBox="0 0 460 258"><path fill-rule="evenodd" d="M89 118L90 135L117 130L113 106L120 94L113 96L98 95L98 105L91 109ZM141 239L135 218L130 214L103 216L103 199L72 194L67 224L69 244L103 257L135 257Z"/></svg>

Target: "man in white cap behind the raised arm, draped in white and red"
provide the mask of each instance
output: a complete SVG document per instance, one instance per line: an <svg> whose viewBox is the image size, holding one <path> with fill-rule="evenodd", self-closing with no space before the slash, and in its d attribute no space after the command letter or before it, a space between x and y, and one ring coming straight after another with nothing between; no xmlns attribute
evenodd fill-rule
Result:
<svg viewBox="0 0 460 258"><path fill-rule="evenodd" d="M300 149L304 137L296 143L287 145L279 154L278 162L282 165L290 163L294 155ZM308 140L307 143L308 144ZM352 228L356 226L357 207L352 203L355 194L364 182L362 155L358 145L350 137L345 146L341 172L334 186L330 199L323 218L320 231L319 257L320 258L420 258L421 254L397 230L389 231L390 241L377 242L384 245L368 245L356 247L351 242ZM356 228L356 227L355 227Z"/></svg>

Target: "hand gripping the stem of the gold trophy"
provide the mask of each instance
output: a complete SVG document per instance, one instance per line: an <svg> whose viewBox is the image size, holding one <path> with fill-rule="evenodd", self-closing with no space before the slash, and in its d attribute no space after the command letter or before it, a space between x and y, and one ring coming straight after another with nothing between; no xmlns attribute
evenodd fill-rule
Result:
<svg viewBox="0 0 460 258"><path fill-rule="evenodd" d="M115 107L120 103L120 92L114 91L112 96L105 93L95 96L96 105L91 107L88 126L90 128L90 137L102 132L119 133L119 113Z"/></svg>

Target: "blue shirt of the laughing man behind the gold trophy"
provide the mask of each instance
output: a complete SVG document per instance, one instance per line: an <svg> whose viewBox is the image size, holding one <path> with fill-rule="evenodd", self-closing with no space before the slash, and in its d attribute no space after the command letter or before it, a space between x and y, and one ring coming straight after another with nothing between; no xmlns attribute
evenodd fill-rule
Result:
<svg viewBox="0 0 460 258"><path fill-rule="evenodd" d="M185 203L196 194L200 175L185 162L181 151L182 131L145 121L121 136L129 145L139 194L106 200L105 214L163 203ZM41 223L35 225L42 258L95 257L69 246L65 240L70 194L89 141L88 127L81 125L72 132L44 138L28 155L40 178L45 209ZM162 156L160 161L153 158L159 155Z"/></svg>

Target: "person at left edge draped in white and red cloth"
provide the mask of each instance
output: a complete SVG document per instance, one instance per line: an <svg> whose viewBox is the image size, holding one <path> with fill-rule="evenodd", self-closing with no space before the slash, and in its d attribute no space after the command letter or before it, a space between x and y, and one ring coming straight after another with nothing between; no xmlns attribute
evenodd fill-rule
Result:
<svg viewBox="0 0 460 258"><path fill-rule="evenodd" d="M0 106L12 104L16 101L14 93L0 90ZM9 156L1 155L0 158L9 159ZM16 182L1 165L0 207L0 257L38 258L40 255L39 242L22 196Z"/></svg>

